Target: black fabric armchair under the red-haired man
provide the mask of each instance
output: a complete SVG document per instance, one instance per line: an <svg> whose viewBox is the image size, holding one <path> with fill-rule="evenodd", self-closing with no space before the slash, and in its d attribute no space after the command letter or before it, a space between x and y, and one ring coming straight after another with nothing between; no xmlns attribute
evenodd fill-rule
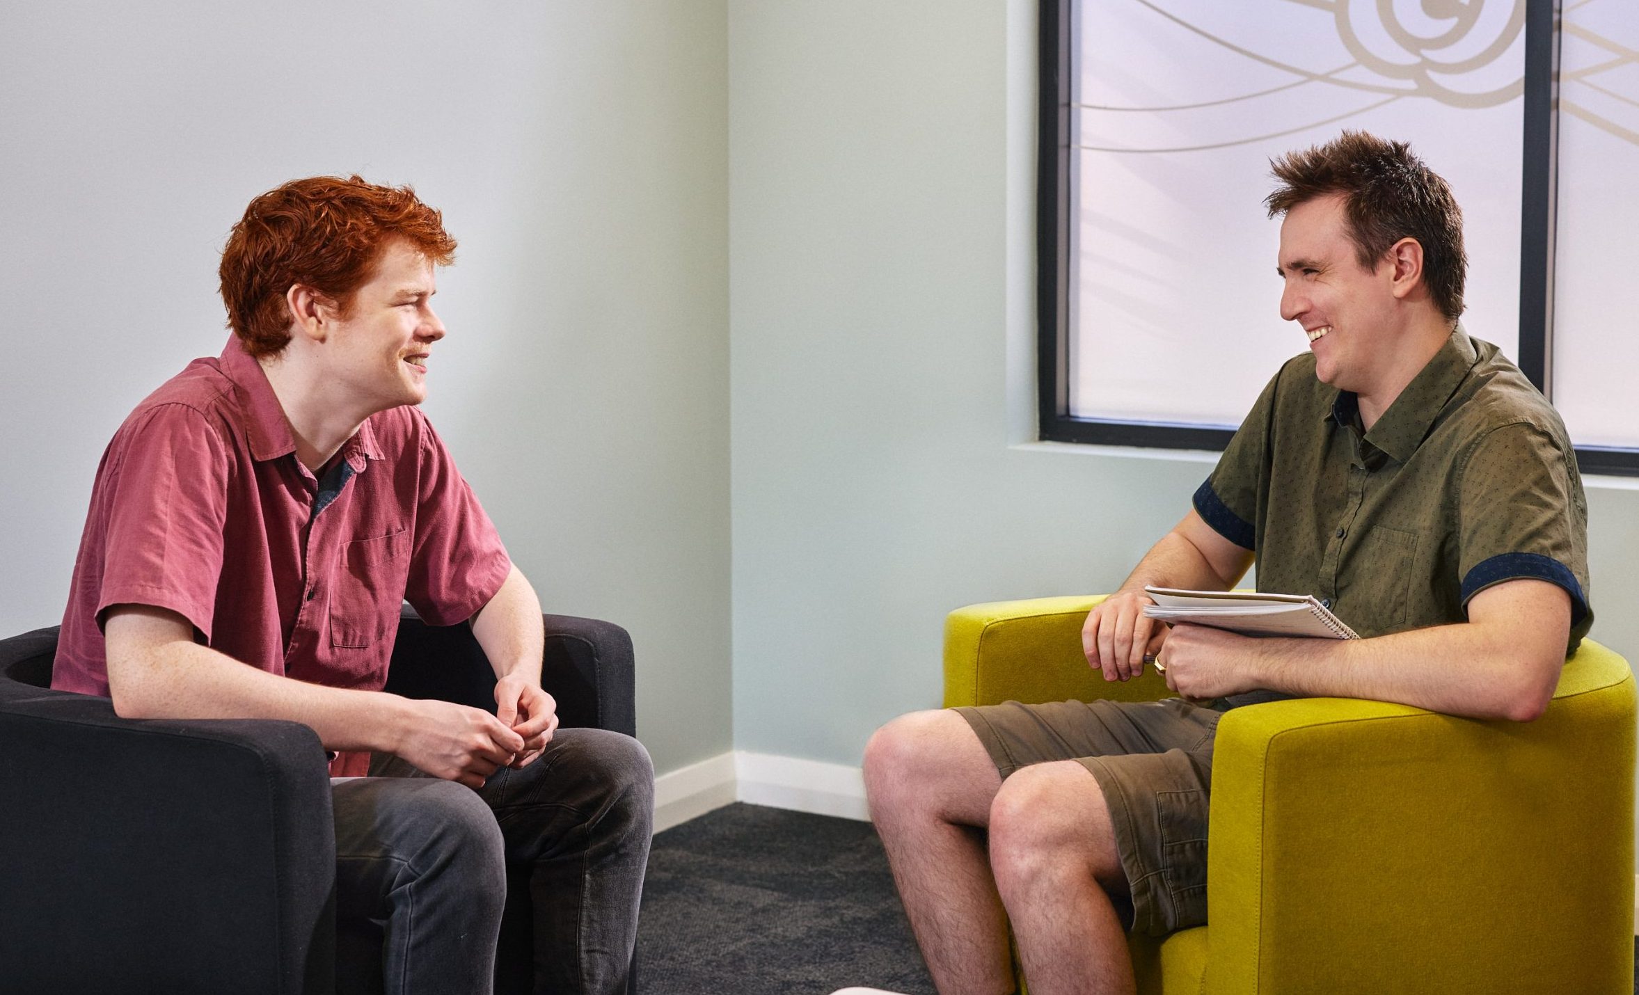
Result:
<svg viewBox="0 0 1639 995"><path fill-rule="evenodd" d="M546 633L541 682L561 725L633 734L626 631L547 615ZM338 982L336 843L313 729L125 720L108 698L49 690L56 646L56 628L0 639L0 993L379 985L367 925L343 931ZM405 610L387 690L493 711L493 687L465 625ZM508 900L497 992L526 992L529 962L528 902Z"/></svg>

